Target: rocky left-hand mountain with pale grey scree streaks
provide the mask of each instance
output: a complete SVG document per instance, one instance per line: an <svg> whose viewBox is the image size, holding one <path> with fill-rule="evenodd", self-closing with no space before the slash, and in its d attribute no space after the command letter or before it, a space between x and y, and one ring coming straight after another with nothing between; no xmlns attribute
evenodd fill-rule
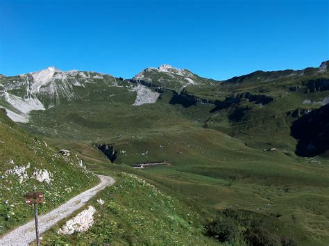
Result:
<svg viewBox="0 0 329 246"><path fill-rule="evenodd" d="M72 101L108 101L111 97L135 97L135 105L154 103L159 94L139 83L129 83L108 74L61 71L48 67L39 72L0 77L0 106L15 122L26 123L32 110L46 110Z"/></svg>

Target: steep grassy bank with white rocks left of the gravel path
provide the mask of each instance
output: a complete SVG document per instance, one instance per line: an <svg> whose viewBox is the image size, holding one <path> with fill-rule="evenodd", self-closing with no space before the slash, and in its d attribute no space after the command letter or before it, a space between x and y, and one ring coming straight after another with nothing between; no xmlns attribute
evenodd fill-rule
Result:
<svg viewBox="0 0 329 246"><path fill-rule="evenodd" d="M33 208L24 201L33 186L44 192L46 202L39 206L44 213L98 181L74 153L62 156L0 110L0 235L33 217Z"/></svg>

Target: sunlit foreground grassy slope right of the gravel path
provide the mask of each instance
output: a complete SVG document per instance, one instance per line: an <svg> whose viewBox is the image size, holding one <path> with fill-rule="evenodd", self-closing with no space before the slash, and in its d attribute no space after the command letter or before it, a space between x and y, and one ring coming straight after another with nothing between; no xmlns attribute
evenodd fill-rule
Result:
<svg viewBox="0 0 329 246"><path fill-rule="evenodd" d="M103 199L100 205L96 199ZM134 174L122 173L119 181L99 192L90 205L96 208L94 225L72 236L56 232L60 222L42 235L45 244L102 245L214 245L204 235L201 215Z"/></svg>

